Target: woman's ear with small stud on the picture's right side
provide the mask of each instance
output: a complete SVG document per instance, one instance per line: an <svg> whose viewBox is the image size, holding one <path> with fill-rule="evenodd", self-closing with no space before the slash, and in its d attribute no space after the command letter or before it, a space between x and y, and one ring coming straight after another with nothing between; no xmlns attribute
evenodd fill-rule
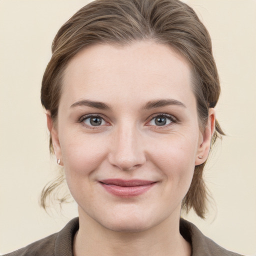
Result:
<svg viewBox="0 0 256 256"><path fill-rule="evenodd" d="M195 158L195 165L202 164L208 157L211 137L215 129L215 118L215 109L209 108L207 125L204 129L204 132L201 133L201 138Z"/></svg>

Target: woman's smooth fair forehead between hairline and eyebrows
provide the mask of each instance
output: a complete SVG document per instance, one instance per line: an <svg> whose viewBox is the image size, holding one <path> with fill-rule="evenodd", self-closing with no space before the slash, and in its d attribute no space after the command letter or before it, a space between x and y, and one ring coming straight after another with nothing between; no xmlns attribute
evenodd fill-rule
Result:
<svg viewBox="0 0 256 256"><path fill-rule="evenodd" d="M96 44L78 52L63 76L63 97L75 101L133 101L164 98L177 100L191 94L190 67L170 46L151 41L125 46ZM61 96L61 97L62 97ZM190 95L191 96L191 95Z"/></svg>

